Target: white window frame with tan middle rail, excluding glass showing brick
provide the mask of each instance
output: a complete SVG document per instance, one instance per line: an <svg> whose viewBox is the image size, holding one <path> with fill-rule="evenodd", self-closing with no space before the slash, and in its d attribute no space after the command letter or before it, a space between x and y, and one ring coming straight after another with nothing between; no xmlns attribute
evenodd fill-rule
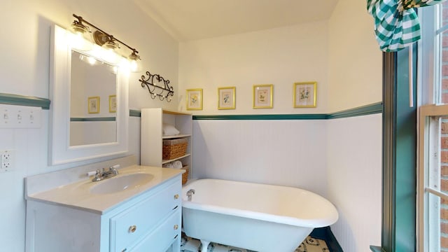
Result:
<svg viewBox="0 0 448 252"><path fill-rule="evenodd" d="M419 8L422 39L418 62L418 169L417 169L417 248L440 251L440 199L448 195L440 190L441 117L448 116L448 105L440 104L439 85L442 38L447 27L440 27L440 5ZM429 104L429 105L426 105ZM436 105L440 104L440 105ZM423 106L422 106L423 105ZM432 172L431 172L432 171ZM431 207L430 207L431 206Z"/></svg>

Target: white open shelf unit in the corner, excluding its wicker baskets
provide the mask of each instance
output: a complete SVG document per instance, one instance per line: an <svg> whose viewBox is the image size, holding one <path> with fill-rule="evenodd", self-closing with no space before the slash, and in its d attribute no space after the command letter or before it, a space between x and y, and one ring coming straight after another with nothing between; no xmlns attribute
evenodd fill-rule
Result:
<svg viewBox="0 0 448 252"><path fill-rule="evenodd" d="M176 127L180 134L164 136L163 124ZM169 162L179 160L183 166L188 165L192 170L192 134L193 115L160 108L141 109L141 165L162 167ZM188 139L185 155L170 160L162 159L162 144L164 139ZM190 172L191 174L191 172Z"/></svg>

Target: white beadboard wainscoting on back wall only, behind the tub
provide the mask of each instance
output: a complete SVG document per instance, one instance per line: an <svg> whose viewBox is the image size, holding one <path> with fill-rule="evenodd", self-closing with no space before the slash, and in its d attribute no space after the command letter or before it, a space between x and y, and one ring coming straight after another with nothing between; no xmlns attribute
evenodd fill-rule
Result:
<svg viewBox="0 0 448 252"><path fill-rule="evenodd" d="M327 193L325 120L193 120L193 177Z"/></svg>

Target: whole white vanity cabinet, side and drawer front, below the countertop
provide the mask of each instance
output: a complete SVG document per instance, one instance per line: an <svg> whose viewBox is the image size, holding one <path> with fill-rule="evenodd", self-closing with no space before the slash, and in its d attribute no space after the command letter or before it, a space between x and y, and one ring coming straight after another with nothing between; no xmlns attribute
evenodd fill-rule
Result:
<svg viewBox="0 0 448 252"><path fill-rule="evenodd" d="M178 174L105 213L27 199L26 251L178 252L181 189Z"/></svg>

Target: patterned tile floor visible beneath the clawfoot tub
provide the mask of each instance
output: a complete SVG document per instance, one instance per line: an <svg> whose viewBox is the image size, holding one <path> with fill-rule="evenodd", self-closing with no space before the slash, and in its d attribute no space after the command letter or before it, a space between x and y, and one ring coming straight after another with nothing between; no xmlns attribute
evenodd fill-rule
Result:
<svg viewBox="0 0 448 252"><path fill-rule="evenodd" d="M200 251L201 241L186 237L182 235L181 251L182 252L197 252ZM255 252L243 248L235 248L231 246L224 246L221 244L211 243L207 250L208 252ZM330 251L325 244L325 241L321 239L315 239L313 237L307 237L300 246L295 249L294 252L328 252ZM272 252L282 252L282 251L272 251ZM288 252L288 251L285 251Z"/></svg>

